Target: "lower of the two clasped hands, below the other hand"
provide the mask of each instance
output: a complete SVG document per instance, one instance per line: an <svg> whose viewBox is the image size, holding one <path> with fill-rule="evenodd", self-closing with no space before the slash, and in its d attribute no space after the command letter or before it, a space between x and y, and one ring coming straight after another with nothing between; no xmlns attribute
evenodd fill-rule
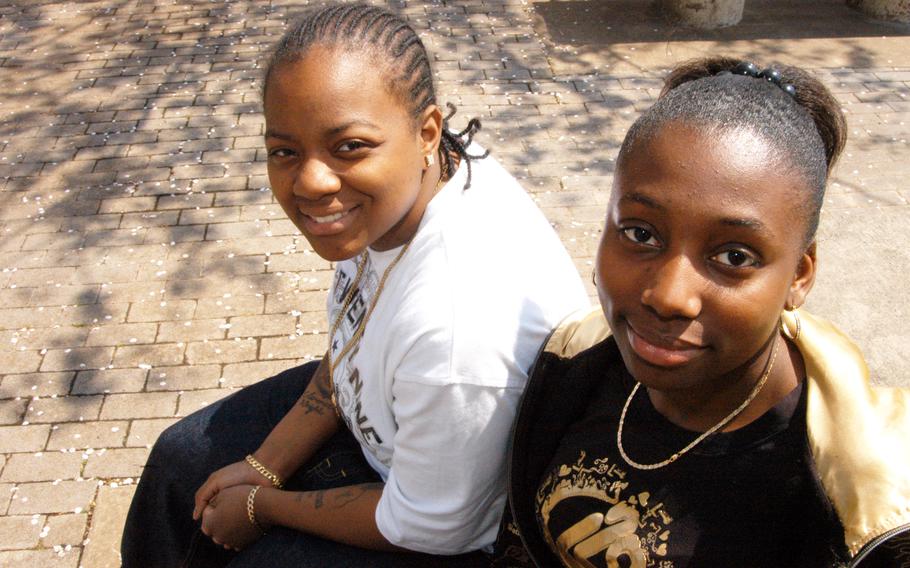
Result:
<svg viewBox="0 0 910 568"><path fill-rule="evenodd" d="M262 536L246 511L252 488L252 485L235 485L222 489L202 511L202 532L215 544L242 550Z"/></svg>

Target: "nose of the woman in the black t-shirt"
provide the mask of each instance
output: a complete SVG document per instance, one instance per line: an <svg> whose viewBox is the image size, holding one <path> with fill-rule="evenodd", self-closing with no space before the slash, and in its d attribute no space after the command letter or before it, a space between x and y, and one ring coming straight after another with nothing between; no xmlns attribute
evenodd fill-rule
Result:
<svg viewBox="0 0 910 568"><path fill-rule="evenodd" d="M702 281L688 258L675 255L653 272L641 302L662 318L695 319L701 313Z"/></svg>

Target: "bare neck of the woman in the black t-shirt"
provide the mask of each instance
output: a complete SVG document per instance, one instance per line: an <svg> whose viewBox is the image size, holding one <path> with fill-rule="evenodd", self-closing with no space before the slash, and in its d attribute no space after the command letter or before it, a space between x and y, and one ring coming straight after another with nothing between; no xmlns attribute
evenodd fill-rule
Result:
<svg viewBox="0 0 910 568"><path fill-rule="evenodd" d="M795 359L800 365L802 359L795 347L778 333L745 364L698 391L648 389L651 403L677 426L704 432L723 420L749 396L767 370L774 342L778 342L778 353L765 385L752 402L721 431L742 428L780 402L799 382L801 374L798 373Z"/></svg>

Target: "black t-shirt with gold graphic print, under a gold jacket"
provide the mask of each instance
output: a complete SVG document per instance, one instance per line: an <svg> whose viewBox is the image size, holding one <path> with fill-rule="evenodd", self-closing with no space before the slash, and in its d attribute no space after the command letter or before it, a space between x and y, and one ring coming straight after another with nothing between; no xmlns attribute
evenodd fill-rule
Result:
<svg viewBox="0 0 910 568"><path fill-rule="evenodd" d="M566 566L835 563L830 520L814 498L802 383L751 424L651 471L627 465L616 446L633 384L624 369L607 373L540 481L538 523ZM657 463L698 435L658 413L642 387L626 414L623 447L639 463Z"/></svg>

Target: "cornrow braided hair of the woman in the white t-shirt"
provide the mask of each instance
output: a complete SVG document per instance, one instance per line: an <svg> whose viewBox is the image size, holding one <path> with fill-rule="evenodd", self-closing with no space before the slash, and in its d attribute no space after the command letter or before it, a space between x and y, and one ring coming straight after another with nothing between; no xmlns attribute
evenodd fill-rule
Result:
<svg viewBox="0 0 910 568"><path fill-rule="evenodd" d="M300 60L314 45L381 56L376 61L384 67L389 89L407 105L415 122L427 107L436 104L430 60L420 36L401 17L366 4L329 4L308 11L272 52L263 81L263 100L273 70ZM449 104L448 108L439 145L440 163L444 175L451 178L458 163L465 162L468 175L464 189L468 189L471 162L487 157L489 151L476 156L468 153L474 135L480 130L480 121L472 118L464 130L453 132L449 130L449 119L455 114L455 107Z"/></svg>

